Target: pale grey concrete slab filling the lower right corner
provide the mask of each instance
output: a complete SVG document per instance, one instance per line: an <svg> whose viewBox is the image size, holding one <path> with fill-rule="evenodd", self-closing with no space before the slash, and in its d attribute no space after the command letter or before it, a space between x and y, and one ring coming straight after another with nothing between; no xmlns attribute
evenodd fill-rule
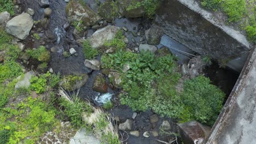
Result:
<svg viewBox="0 0 256 144"><path fill-rule="evenodd" d="M205 143L256 143L256 50L249 55Z"/></svg>

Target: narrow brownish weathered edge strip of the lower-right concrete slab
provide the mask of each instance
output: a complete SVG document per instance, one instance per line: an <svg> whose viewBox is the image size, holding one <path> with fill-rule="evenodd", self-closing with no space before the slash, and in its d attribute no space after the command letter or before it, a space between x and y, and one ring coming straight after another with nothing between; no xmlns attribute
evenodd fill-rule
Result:
<svg viewBox="0 0 256 144"><path fill-rule="evenodd" d="M212 140L218 134L219 129L222 128L225 118L228 116L229 111L232 109L232 106L235 104L237 94L243 88L243 84L246 80L249 70L251 70L251 68L252 68L252 64L253 64L255 58L256 58L256 49L254 47L254 49L251 51L250 55L247 58L245 66L243 67L243 70L242 70L240 76L238 77L236 84L235 84L234 88L232 89L232 92L229 95L228 100L226 100L226 103L223 106L222 111L220 112L216 122L213 125L210 135L207 137L207 139L204 143L207 143L207 144L212 143Z"/></svg>

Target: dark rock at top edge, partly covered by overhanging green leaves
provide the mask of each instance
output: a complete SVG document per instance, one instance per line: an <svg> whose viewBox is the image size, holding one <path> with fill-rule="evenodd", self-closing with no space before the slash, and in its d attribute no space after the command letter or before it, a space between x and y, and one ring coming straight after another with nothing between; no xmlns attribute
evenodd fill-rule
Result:
<svg viewBox="0 0 256 144"><path fill-rule="evenodd" d="M141 2L142 0L138 0L138 2ZM138 8L133 8L132 10L127 10L127 5L131 5L133 0L124 0L124 1L118 1L118 5L120 8L120 13L126 17L142 17L145 15L145 9L143 5Z"/></svg>

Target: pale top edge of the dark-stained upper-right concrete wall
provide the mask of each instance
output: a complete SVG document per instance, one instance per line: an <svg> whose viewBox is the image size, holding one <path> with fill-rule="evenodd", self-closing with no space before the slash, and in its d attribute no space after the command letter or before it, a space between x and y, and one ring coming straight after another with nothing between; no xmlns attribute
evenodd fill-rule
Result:
<svg viewBox="0 0 256 144"><path fill-rule="evenodd" d="M241 32L236 31L235 29L232 29L225 25L225 23L220 22L216 19L216 17L213 16L213 14L210 11L207 11L200 7L199 3L197 3L195 0L177 0L189 9L195 11L196 13L200 14L203 18L205 18L207 21L210 21L214 26L222 29L226 34L230 35L230 37L237 40L239 43L244 45L248 50L251 50L251 43L247 40L246 36L243 35ZM219 23L218 23L219 22Z"/></svg>

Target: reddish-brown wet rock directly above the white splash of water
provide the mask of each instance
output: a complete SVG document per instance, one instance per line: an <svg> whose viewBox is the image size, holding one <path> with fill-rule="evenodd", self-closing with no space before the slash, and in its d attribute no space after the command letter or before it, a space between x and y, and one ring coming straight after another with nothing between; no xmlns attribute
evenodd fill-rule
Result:
<svg viewBox="0 0 256 144"><path fill-rule="evenodd" d="M102 74L97 74L92 89L98 93L107 93L108 85Z"/></svg>

